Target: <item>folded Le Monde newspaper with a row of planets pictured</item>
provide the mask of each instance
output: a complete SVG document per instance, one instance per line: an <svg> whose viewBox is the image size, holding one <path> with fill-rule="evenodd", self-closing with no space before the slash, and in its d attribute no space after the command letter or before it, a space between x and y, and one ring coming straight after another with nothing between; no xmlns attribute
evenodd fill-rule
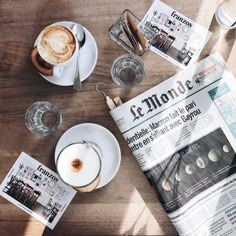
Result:
<svg viewBox="0 0 236 236"><path fill-rule="evenodd" d="M179 235L236 235L236 83L219 53L110 114Z"/></svg>

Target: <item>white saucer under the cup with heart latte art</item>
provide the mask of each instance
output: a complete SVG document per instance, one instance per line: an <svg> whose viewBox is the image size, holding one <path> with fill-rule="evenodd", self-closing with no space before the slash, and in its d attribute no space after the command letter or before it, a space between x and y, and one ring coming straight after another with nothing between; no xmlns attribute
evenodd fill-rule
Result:
<svg viewBox="0 0 236 236"><path fill-rule="evenodd" d="M73 24L76 24L75 22L71 21L60 21L55 24L60 24L67 26L69 28L72 28ZM98 49L97 44L92 36L92 34L85 28L85 37L86 41L84 46L80 49L80 55L79 55L79 72L81 81L86 80L90 74L93 72L95 65L97 63L98 58ZM36 42L34 43L34 46L36 45ZM60 85L60 86L71 86L73 85L74 80L74 73L75 73L75 63L71 63L70 66L66 66L63 70L63 74L60 78L57 78L55 76L45 76L40 73L40 75L46 79L48 82Z"/></svg>

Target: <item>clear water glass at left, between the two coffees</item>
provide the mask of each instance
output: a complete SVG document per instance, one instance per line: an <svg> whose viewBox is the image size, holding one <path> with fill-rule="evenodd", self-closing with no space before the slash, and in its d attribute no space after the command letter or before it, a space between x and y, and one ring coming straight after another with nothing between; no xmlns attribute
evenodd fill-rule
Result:
<svg viewBox="0 0 236 236"><path fill-rule="evenodd" d="M25 113L26 127L33 133L46 136L54 133L62 122L58 109L47 101L33 103Z"/></svg>

